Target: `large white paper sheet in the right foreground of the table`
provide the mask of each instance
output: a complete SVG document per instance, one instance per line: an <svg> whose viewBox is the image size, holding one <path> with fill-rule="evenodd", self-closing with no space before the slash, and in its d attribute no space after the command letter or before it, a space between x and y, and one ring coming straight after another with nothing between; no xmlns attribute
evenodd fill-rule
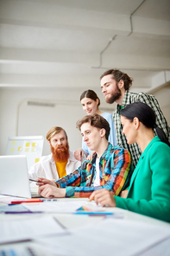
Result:
<svg viewBox="0 0 170 256"><path fill-rule="evenodd" d="M170 237L170 228L150 225L142 221L106 219L85 225L65 237L39 240L50 246L63 246L81 256L131 256L146 251L150 246Z"/></svg>

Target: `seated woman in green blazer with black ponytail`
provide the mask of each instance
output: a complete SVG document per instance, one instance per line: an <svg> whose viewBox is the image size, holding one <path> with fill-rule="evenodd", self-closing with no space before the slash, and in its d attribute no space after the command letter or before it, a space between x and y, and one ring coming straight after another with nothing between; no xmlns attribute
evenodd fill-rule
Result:
<svg viewBox="0 0 170 256"><path fill-rule="evenodd" d="M128 195L126 198L113 196L108 190L100 189L93 192L90 199L94 198L102 206L107 204L170 222L170 144L167 137L155 125L154 111L142 102L122 109L121 123L128 144L137 143L142 150Z"/></svg>

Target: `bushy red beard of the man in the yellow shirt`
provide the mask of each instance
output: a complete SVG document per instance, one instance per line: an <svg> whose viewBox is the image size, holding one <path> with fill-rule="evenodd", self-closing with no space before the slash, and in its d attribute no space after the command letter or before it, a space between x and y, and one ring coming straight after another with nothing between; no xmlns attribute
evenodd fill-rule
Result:
<svg viewBox="0 0 170 256"><path fill-rule="evenodd" d="M66 143L66 146L58 145L56 148L54 148L51 144L51 151L52 151L55 162L63 163L63 162L66 162L70 157L68 143Z"/></svg>

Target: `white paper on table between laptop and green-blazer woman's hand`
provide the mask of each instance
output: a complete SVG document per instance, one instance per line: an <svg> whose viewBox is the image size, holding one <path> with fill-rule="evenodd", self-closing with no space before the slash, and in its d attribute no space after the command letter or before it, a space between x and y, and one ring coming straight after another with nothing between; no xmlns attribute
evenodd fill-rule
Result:
<svg viewBox="0 0 170 256"><path fill-rule="evenodd" d="M105 211L105 208L97 206L95 202L86 201L71 201L71 202L40 202L40 203L22 203L25 208L28 208L32 212L46 212L46 213L74 213L77 209L85 205L87 208L91 208L93 211Z"/></svg>

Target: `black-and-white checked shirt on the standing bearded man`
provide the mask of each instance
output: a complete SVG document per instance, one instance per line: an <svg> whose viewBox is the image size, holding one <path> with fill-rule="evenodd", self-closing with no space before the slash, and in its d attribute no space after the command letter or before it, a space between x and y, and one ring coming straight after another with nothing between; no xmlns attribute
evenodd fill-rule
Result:
<svg viewBox="0 0 170 256"><path fill-rule="evenodd" d="M127 144L126 137L122 133L123 126L121 125L120 110L121 108L124 108L129 104L137 101L146 103L148 106L150 106L154 110L156 115L156 125L158 125L165 132L165 134L167 135L167 139L170 142L170 127L167 125L167 120L164 117L163 113L161 112L157 99L155 99L153 95L150 95L148 93L131 93L129 91L126 91L123 98L123 105L120 106L117 104L116 112L113 113L113 119L116 127L117 144L129 150L134 167L138 163L139 158L141 157L142 151L140 150L139 146L136 143L130 144L130 145Z"/></svg>

